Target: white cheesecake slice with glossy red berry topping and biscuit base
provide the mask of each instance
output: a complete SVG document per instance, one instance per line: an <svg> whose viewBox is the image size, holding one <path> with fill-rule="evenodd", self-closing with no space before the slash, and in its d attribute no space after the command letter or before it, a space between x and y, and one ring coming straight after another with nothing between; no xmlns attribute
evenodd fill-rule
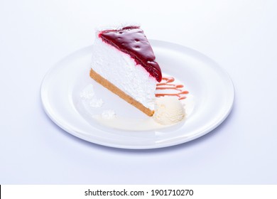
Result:
<svg viewBox="0 0 277 199"><path fill-rule="evenodd" d="M90 77L148 116L154 113L161 68L139 26L97 32Z"/></svg>

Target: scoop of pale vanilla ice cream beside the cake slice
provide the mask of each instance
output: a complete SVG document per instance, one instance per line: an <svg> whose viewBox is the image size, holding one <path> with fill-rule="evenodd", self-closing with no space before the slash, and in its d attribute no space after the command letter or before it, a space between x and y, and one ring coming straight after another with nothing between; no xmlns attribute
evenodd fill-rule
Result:
<svg viewBox="0 0 277 199"><path fill-rule="evenodd" d="M180 122L185 117L185 109L176 97L157 97L153 119L168 125Z"/></svg>

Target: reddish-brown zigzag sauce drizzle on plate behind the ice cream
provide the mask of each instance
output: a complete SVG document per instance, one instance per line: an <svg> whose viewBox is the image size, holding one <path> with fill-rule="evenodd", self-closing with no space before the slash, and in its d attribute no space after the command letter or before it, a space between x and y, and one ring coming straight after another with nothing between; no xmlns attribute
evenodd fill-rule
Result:
<svg viewBox="0 0 277 199"><path fill-rule="evenodd" d="M156 86L156 90L176 90L176 93L157 93L156 97L163 96L176 96L179 100L185 99L186 94L188 94L188 90L183 90L184 85L176 85L173 84L175 81L174 77L163 77L161 83L158 83Z"/></svg>

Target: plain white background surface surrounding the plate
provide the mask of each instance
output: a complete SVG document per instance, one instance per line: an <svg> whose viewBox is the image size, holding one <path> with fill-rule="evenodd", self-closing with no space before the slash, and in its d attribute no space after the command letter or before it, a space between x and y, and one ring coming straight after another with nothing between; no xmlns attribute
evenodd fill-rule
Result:
<svg viewBox="0 0 277 199"><path fill-rule="evenodd" d="M0 1L1 184L276 184L276 1ZM229 72L234 109L179 146L82 141L43 111L40 83L97 27L139 23L148 38L204 53Z"/></svg>

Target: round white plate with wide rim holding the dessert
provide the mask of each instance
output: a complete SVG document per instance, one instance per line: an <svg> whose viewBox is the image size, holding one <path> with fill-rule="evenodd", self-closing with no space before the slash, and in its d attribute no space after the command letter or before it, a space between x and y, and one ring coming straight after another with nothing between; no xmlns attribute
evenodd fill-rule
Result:
<svg viewBox="0 0 277 199"><path fill-rule="evenodd" d="M182 144L221 124L234 102L234 87L227 72L190 48L164 41L150 42L163 73L183 82L194 98L193 109L184 122L171 127L136 130L99 124L91 113L100 113L103 109L114 109L119 117L128 117L133 122L141 122L146 116L89 77L92 46L63 58L45 75L40 97L50 119L80 139L123 149L154 149ZM97 97L103 99L103 107L88 109L82 103L80 92L89 84L94 85Z"/></svg>

